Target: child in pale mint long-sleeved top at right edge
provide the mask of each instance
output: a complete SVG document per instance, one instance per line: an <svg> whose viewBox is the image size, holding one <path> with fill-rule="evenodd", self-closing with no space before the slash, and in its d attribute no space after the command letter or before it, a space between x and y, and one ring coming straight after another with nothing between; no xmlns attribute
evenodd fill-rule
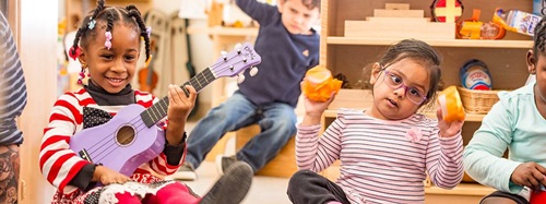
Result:
<svg viewBox="0 0 546 204"><path fill-rule="evenodd" d="M498 190L486 195L483 204L529 203L531 191L545 191L546 17L536 25L533 40L526 64L536 81L510 93L500 92L500 100L464 149L468 176ZM503 158L507 149L508 158Z"/></svg>

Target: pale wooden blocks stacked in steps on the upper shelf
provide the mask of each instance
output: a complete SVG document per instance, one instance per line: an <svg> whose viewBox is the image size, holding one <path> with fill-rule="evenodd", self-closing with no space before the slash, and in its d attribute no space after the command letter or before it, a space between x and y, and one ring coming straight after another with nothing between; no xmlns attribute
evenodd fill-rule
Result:
<svg viewBox="0 0 546 204"><path fill-rule="evenodd" d="M454 39L454 22L430 22L424 10L406 3L387 3L366 21L345 21L345 37Z"/></svg>

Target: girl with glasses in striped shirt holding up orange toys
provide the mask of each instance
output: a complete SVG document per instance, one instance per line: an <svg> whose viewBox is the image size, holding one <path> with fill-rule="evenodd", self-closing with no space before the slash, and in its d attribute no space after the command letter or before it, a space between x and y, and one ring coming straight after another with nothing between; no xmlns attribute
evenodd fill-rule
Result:
<svg viewBox="0 0 546 204"><path fill-rule="evenodd" d="M423 203L427 173L434 184L454 188L463 177L461 128L417 110L435 101L440 56L424 41L391 46L372 65L373 105L342 109L319 136L321 115L333 100L306 98L296 136L296 172L288 184L293 203ZM318 175L340 159L335 182Z"/></svg>

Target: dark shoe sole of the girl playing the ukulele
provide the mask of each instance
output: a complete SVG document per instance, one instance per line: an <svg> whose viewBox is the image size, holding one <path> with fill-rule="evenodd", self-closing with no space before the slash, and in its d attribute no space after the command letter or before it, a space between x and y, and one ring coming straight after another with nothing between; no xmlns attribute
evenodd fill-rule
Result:
<svg viewBox="0 0 546 204"><path fill-rule="evenodd" d="M252 176L252 167L244 161L235 161L199 203L239 204L250 190Z"/></svg>

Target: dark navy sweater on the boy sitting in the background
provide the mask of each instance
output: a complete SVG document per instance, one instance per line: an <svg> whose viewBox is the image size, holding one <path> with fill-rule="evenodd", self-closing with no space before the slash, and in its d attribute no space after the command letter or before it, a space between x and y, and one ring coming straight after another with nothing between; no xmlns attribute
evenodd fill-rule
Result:
<svg viewBox="0 0 546 204"><path fill-rule="evenodd" d="M258 74L239 84L239 92L256 105L285 103L296 107L299 83L307 70L319 64L319 34L293 35L284 27L278 9L257 0L237 0L237 5L258 21L254 50L262 57Z"/></svg>

